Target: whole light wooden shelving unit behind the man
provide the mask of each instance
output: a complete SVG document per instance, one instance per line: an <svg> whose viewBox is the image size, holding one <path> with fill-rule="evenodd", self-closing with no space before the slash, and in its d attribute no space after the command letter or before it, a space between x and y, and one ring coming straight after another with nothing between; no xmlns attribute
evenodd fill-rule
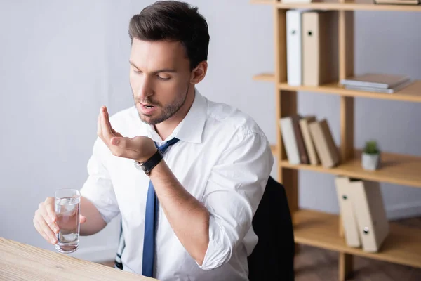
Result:
<svg viewBox="0 0 421 281"><path fill-rule="evenodd" d="M276 124L281 117L297 114L297 92L326 93L340 96L340 158L338 166L326 169L309 164L293 165L288 162L279 125L276 126L276 144L272 152L278 162L278 180L283 183L288 204L293 214L295 242L338 251L339 280L346 280L353 270L353 256L399 263L421 268L421 229L390 223L390 234L379 252L368 253L361 248L345 244L340 216L298 208L298 171L309 170L326 174L350 176L370 181L394 183L421 188L421 157L382 152L381 166L377 171L361 168L361 150L354 148L354 97L378 98L413 103L421 102L421 81L393 94L352 91L344 89L340 79L354 75L354 11L421 11L420 6L378 5L373 1L326 1L310 4L284 4L276 0L251 0L252 4L269 4L274 13L274 73L256 74L256 81L276 84ZM286 83L286 11L292 8L338 11L339 79L321 86L290 86Z"/></svg>

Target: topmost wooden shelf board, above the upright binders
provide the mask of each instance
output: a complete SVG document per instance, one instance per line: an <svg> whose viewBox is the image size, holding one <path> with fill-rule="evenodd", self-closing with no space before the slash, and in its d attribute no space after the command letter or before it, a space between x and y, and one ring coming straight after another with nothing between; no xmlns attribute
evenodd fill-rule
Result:
<svg viewBox="0 0 421 281"><path fill-rule="evenodd" d="M272 4L280 9L309 8L314 10L333 11L406 11L420 12L421 5L394 5L394 4L374 4L373 1L349 1L339 3L333 1L323 1L314 3L281 3L279 1L252 0L251 4Z"/></svg>

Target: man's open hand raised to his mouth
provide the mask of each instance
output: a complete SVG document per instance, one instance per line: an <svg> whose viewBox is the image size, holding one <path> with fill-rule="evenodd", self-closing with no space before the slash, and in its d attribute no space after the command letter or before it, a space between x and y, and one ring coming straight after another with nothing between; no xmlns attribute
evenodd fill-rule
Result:
<svg viewBox="0 0 421 281"><path fill-rule="evenodd" d="M113 155L145 162L156 152L154 141L146 136L127 138L112 129L109 123L107 107L102 106L98 116L98 136L107 145Z"/></svg>

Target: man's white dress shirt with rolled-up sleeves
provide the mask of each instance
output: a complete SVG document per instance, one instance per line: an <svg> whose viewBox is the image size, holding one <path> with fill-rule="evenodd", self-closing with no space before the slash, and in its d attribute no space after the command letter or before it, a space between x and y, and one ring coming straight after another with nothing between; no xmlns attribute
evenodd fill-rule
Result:
<svg viewBox="0 0 421 281"><path fill-rule="evenodd" d="M166 140L140 120L135 106L116 113L110 122L123 136L148 136L159 145L179 138L163 159L182 186L210 213L209 245L199 266L159 209L154 277L248 280L247 256L258 242L252 218L274 162L267 138L253 119L229 105L211 102L196 89L192 107ZM107 223L121 214L126 242L121 256L123 270L142 274L149 178L133 163L112 155L98 138L81 195L95 204Z"/></svg>

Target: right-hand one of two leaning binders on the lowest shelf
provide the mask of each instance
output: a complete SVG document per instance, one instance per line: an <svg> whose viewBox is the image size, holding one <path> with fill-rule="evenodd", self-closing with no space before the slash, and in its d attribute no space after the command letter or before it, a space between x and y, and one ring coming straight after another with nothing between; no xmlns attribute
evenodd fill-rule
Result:
<svg viewBox="0 0 421 281"><path fill-rule="evenodd" d="M380 183L351 179L348 185L363 251L379 251L389 234Z"/></svg>

